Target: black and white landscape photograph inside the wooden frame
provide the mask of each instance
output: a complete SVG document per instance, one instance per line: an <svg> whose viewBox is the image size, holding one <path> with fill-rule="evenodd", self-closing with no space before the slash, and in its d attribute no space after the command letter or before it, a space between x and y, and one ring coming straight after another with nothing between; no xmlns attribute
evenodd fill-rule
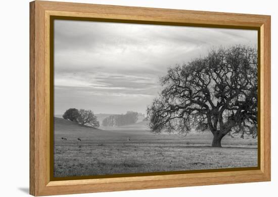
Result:
<svg viewBox="0 0 278 197"><path fill-rule="evenodd" d="M258 31L54 20L54 177L258 166Z"/></svg>

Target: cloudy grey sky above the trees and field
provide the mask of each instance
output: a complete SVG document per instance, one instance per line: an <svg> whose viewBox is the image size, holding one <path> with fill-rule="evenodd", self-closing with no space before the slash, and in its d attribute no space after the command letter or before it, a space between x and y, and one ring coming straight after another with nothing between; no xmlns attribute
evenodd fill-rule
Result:
<svg viewBox="0 0 278 197"><path fill-rule="evenodd" d="M167 68L211 48L257 46L257 31L55 20L55 114L146 113Z"/></svg>

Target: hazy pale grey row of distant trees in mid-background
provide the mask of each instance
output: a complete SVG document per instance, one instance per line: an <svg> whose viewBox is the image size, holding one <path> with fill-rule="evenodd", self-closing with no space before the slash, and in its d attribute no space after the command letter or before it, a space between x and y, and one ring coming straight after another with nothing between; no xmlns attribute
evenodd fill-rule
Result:
<svg viewBox="0 0 278 197"><path fill-rule="evenodd" d="M102 121L103 126L123 126L133 124L138 120L138 113L127 111L126 114L115 114L106 117Z"/></svg>

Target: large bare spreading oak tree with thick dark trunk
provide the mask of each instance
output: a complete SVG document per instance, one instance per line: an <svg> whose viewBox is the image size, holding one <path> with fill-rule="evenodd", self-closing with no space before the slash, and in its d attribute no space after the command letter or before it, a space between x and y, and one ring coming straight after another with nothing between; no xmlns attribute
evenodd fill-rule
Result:
<svg viewBox="0 0 278 197"><path fill-rule="evenodd" d="M225 135L257 137L257 49L232 46L169 68L162 92L148 106L154 133L209 129L212 146Z"/></svg>

